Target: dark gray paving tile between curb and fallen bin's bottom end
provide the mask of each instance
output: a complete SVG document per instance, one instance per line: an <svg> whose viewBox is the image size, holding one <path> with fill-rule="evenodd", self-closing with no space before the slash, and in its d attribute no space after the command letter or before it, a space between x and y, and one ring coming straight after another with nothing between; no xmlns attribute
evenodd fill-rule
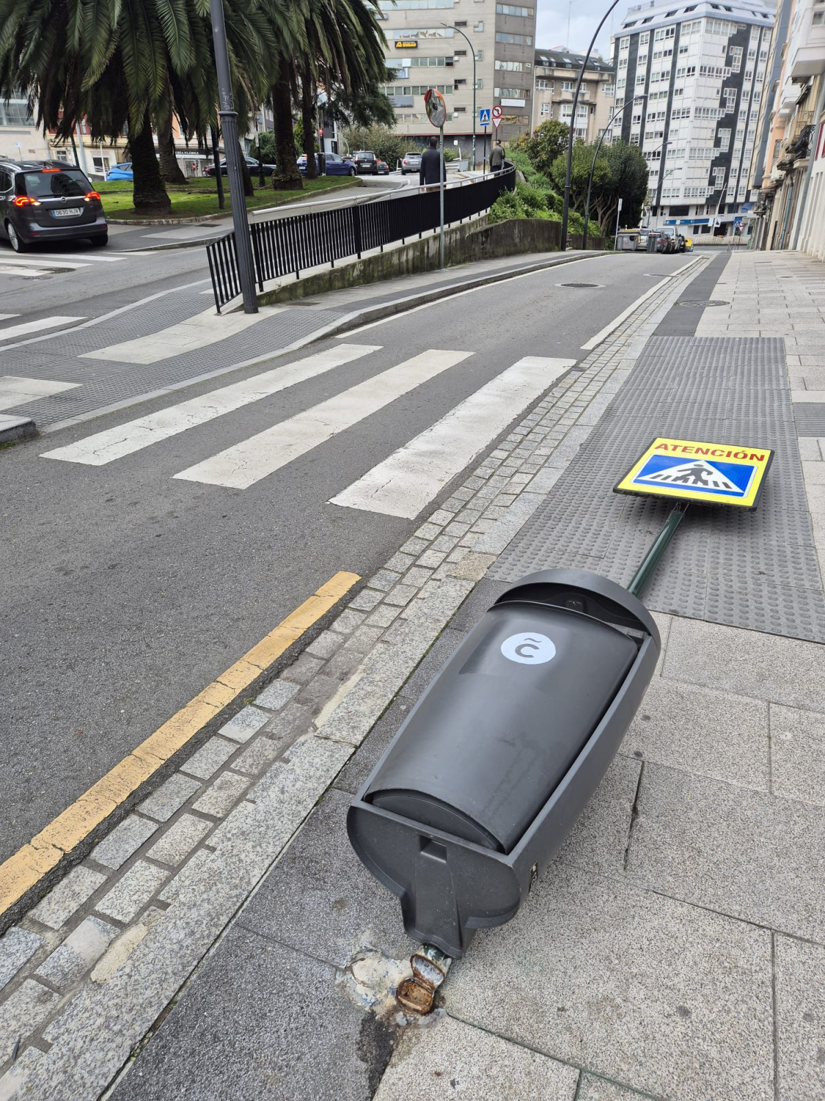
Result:
<svg viewBox="0 0 825 1101"><path fill-rule="evenodd" d="M331 791L239 916L264 937L344 968L362 948L404 959L415 948L398 900L346 837L350 797Z"/></svg>

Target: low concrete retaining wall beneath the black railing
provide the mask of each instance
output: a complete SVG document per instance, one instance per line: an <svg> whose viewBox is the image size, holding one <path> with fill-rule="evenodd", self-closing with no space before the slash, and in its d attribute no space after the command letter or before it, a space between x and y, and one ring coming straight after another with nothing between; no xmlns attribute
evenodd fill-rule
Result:
<svg viewBox="0 0 825 1101"><path fill-rule="evenodd" d="M556 252L561 239L561 222L539 218L519 218L490 224L487 216L453 226L444 232L444 262L448 266L475 260L492 260L527 252ZM574 249L582 239L571 236ZM592 249L603 248L601 238L591 238ZM302 279L274 285L258 294L261 305L306 298L324 291L341 291L348 286L383 283L385 280L416 272L435 271L439 266L439 235L406 244L387 248L361 260L344 261L336 268L314 272Z"/></svg>

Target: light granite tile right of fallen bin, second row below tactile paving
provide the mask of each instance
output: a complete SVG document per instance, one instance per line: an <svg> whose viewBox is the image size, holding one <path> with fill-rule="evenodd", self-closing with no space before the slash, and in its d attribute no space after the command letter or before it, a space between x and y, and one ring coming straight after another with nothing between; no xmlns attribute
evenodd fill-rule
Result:
<svg viewBox="0 0 825 1101"><path fill-rule="evenodd" d="M768 705L668 677L654 678L622 752L768 791Z"/></svg>

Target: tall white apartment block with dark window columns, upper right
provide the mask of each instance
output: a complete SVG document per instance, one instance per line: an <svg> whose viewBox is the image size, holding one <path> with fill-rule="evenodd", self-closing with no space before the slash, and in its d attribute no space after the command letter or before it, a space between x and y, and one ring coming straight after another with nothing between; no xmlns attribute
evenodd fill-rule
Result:
<svg viewBox="0 0 825 1101"><path fill-rule="evenodd" d="M760 0L628 9L614 44L616 106L622 138L650 166L651 225L747 229L773 22Z"/></svg>

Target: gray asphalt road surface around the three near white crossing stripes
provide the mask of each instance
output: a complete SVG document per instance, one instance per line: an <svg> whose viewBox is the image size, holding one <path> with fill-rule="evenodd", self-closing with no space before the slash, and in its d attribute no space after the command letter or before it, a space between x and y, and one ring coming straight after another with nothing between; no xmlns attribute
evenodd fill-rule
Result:
<svg viewBox="0 0 825 1101"><path fill-rule="evenodd" d="M378 350L105 466L41 456L341 341L0 453L0 859L332 574L369 576L420 523L341 508L332 497L521 357L583 357L582 344L686 259L595 258L447 298L344 338ZM148 265L148 294L158 279L186 279L187 261L170 252L135 264ZM120 265L108 266L111 281ZM596 285L558 285L566 282ZM36 291L50 296L53 283ZM90 302L87 314L97 308ZM250 488L174 478L430 349L471 355ZM486 454L495 439L482 444Z"/></svg>

